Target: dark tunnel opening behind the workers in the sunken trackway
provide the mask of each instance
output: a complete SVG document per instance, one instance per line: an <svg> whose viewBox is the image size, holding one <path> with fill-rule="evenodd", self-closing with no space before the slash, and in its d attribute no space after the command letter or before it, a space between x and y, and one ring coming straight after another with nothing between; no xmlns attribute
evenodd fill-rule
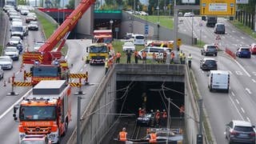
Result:
<svg viewBox="0 0 256 144"><path fill-rule="evenodd" d="M180 117L177 106L184 105L184 82L117 82L117 91L117 111L122 114L138 114L139 107L146 112L168 110L170 98L170 116L175 118Z"/></svg>

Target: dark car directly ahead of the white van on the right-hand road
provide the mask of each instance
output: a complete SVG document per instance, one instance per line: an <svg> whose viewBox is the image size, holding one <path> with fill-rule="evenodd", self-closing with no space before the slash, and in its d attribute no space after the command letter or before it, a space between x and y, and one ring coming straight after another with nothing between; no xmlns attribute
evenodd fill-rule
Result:
<svg viewBox="0 0 256 144"><path fill-rule="evenodd" d="M200 69L218 70L217 61L214 58L203 58L200 60Z"/></svg>

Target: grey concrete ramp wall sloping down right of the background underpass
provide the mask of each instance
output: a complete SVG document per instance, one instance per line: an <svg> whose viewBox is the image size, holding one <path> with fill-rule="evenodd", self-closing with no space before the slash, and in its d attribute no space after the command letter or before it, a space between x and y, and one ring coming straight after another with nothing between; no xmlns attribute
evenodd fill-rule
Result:
<svg viewBox="0 0 256 144"><path fill-rule="evenodd" d="M146 24L149 25L148 39L159 39L163 41L174 40L174 30L169 30L164 26L159 26L158 28L157 24L146 22L146 20L138 18L132 14L126 13L125 11L122 11L122 25L121 31L119 33L119 38L120 36L123 36L126 33L144 34L144 27ZM186 45L192 44L191 35L178 33L178 38L182 38L182 43Z"/></svg>

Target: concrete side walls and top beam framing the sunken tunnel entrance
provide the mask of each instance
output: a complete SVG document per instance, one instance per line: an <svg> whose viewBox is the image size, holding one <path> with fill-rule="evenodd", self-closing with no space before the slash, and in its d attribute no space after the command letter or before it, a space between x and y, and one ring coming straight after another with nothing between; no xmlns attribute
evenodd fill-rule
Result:
<svg viewBox="0 0 256 144"><path fill-rule="evenodd" d="M102 138L110 130L114 123L115 110L115 90L116 81L124 80L122 74L159 74L171 75L176 77L176 82L185 81L185 108L186 108L186 138L189 144L196 143L196 134L198 134L198 107L194 102L192 90L190 90L190 78L186 71L186 65L114 65L105 78L102 79L98 90L96 90L86 111L82 114L82 143L101 143ZM121 74L121 76L120 76ZM183 78L180 76L182 75ZM138 77L137 77L138 78ZM180 79L181 78L181 79ZM161 79L159 79L161 80ZM68 144L76 143L76 130L70 137Z"/></svg>

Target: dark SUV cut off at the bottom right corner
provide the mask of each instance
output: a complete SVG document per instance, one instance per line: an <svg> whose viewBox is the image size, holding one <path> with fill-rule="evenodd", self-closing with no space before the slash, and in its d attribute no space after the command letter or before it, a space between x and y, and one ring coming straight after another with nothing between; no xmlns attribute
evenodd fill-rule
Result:
<svg viewBox="0 0 256 144"><path fill-rule="evenodd" d="M255 126L251 122L232 120L226 124L225 135L229 143L242 142L255 144Z"/></svg>

